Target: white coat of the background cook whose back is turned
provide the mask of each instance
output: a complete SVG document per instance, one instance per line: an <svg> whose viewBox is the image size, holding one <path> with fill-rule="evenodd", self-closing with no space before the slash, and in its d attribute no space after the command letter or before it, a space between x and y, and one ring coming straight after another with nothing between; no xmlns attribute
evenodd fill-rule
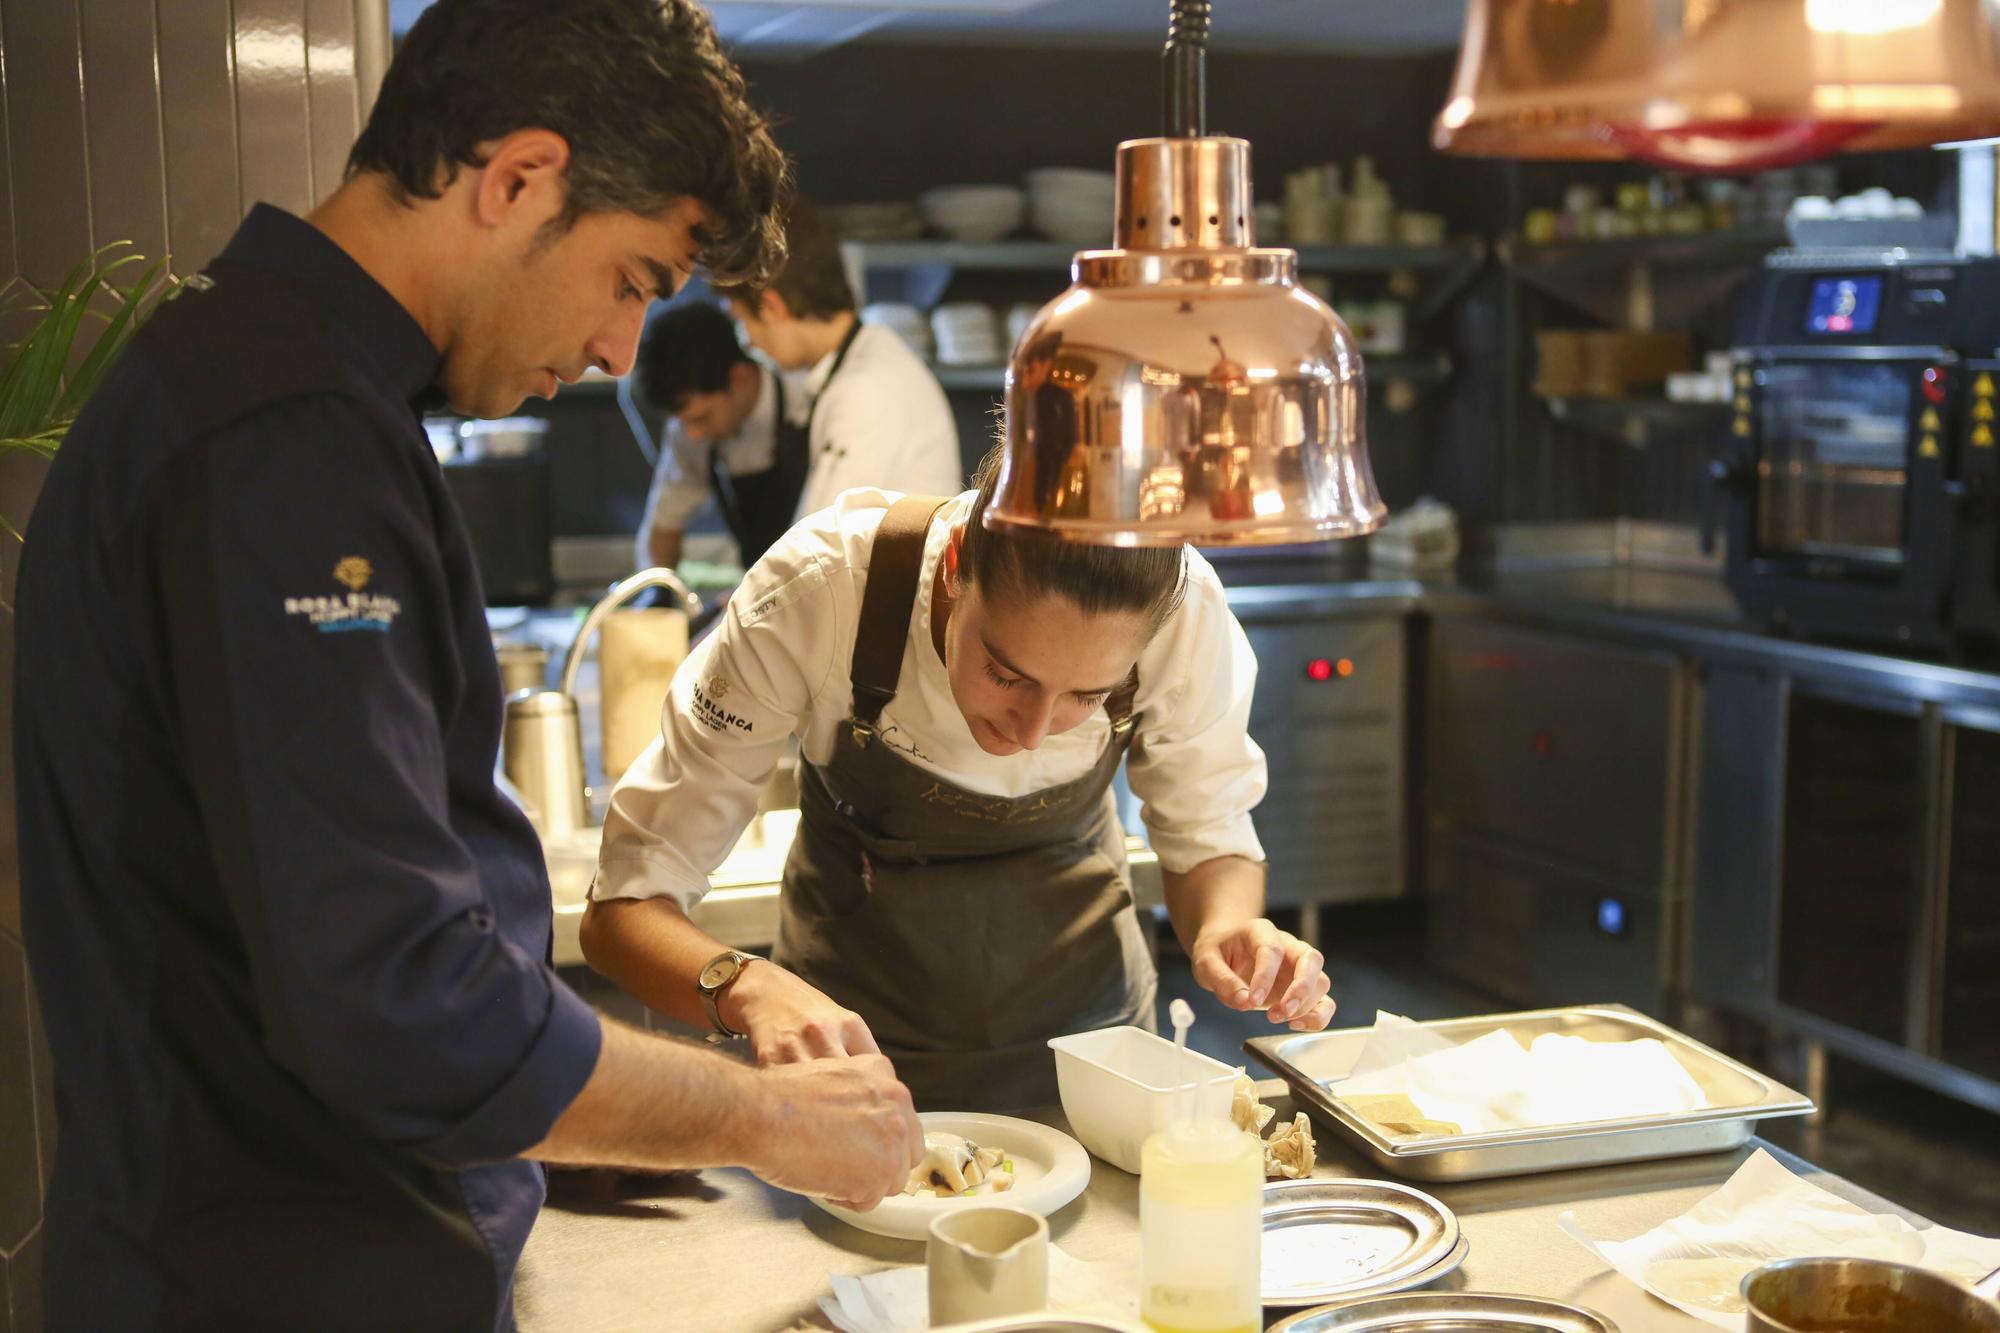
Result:
<svg viewBox="0 0 2000 1333"><path fill-rule="evenodd" d="M832 374L834 356L822 356L806 376L812 466L792 518L814 514L856 486L956 494L966 484L958 426L930 366L874 324L854 332L840 374Z"/></svg>

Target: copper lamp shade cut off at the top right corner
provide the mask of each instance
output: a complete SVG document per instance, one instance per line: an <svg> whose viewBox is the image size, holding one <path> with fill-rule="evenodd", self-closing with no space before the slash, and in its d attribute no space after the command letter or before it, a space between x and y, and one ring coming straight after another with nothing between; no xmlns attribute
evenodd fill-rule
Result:
<svg viewBox="0 0 2000 1333"><path fill-rule="evenodd" d="M1742 172L1996 132L1996 0L1470 0L1432 142Z"/></svg>

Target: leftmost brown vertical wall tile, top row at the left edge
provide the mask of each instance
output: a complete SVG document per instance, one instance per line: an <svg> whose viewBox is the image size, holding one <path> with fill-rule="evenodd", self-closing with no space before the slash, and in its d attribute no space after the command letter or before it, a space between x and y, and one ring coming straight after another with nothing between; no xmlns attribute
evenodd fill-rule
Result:
<svg viewBox="0 0 2000 1333"><path fill-rule="evenodd" d="M90 250L76 0L8 0L6 46L14 252L20 272L52 282Z"/></svg>

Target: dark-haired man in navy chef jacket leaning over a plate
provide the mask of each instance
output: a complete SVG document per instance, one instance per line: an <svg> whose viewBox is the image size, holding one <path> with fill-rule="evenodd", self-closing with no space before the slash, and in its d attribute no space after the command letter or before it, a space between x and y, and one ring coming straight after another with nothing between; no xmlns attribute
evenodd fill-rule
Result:
<svg viewBox="0 0 2000 1333"><path fill-rule="evenodd" d="M864 1205L916 1163L880 1057L758 1071L556 979L420 428L626 372L696 262L774 266L782 184L688 0L442 0L340 190L254 208L78 420L14 717L52 1329L508 1329L538 1161Z"/></svg>

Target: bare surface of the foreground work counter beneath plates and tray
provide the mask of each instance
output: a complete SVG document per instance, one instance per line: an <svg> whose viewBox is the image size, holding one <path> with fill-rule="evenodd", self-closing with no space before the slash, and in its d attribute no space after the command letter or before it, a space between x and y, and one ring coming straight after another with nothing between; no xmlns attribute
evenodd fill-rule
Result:
<svg viewBox="0 0 2000 1333"><path fill-rule="evenodd" d="M1260 1085L1288 1117L1284 1085ZM1060 1111L1044 1119L1062 1127ZM1314 1175L1370 1175L1318 1125ZM1756 1147L1816 1185L1874 1211L1916 1215L1798 1157L1752 1143L1738 1153L1562 1171L1436 1187L1470 1241L1446 1291L1510 1291L1588 1305L1624 1333L1702 1333L1708 1325L1664 1305L1610 1271L1556 1225L1574 1209L1586 1231L1626 1239L1692 1207ZM1136 1293L1138 1177L1090 1161L1090 1189L1050 1219L1050 1237L1098 1269L1108 1291ZM890 1241L834 1221L808 1201L744 1171L702 1171L646 1181L560 1179L550 1191L516 1287L524 1333L686 1329L766 1333L800 1321L826 1327L816 1299L828 1273L874 1273L922 1263L922 1245ZM1274 1321L1284 1311L1266 1311Z"/></svg>

